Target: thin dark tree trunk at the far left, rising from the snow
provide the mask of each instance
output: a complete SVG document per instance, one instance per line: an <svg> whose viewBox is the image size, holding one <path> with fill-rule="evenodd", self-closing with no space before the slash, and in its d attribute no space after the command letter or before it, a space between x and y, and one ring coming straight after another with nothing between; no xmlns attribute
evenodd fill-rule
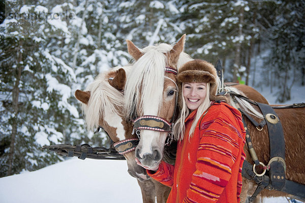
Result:
<svg viewBox="0 0 305 203"><path fill-rule="evenodd" d="M11 176L13 175L12 169L13 169L13 159L14 159L14 150L15 150L15 142L16 142L16 135L17 135L17 124L18 124L18 113L19 113L19 84L20 84L20 78L21 78L21 72L22 72L22 65L20 65L20 62L22 61L22 52L20 49L23 46L23 41L21 40L19 43L19 47L17 49L17 70L16 70L16 81L14 84L14 88L12 91L12 105L14 110L14 118L12 123L12 134L11 134L11 143L10 143L10 152L9 152L9 159L8 159L8 172L7 175Z"/></svg>

